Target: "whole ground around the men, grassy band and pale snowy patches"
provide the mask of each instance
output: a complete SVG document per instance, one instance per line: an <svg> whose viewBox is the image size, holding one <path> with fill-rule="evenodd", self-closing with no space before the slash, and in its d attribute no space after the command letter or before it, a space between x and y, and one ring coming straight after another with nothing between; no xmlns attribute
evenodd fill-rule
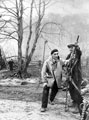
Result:
<svg viewBox="0 0 89 120"><path fill-rule="evenodd" d="M0 120L79 120L80 115L73 114L73 108L65 112L66 95L62 90L55 105L48 104L47 111L41 113L42 85L38 81L38 77L0 80Z"/></svg>

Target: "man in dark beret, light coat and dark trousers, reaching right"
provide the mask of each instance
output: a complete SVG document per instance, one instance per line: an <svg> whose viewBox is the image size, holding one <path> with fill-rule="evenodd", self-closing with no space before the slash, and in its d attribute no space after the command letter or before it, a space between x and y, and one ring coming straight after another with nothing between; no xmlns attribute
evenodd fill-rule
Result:
<svg viewBox="0 0 89 120"><path fill-rule="evenodd" d="M51 51L51 56L44 62L42 67L42 82L43 82L43 93L42 93L42 105L41 112L45 112L48 105L49 90L50 103L53 104L53 100L58 92L58 88L61 87L62 82L62 65L66 64L69 60L62 60L59 57L57 49Z"/></svg>

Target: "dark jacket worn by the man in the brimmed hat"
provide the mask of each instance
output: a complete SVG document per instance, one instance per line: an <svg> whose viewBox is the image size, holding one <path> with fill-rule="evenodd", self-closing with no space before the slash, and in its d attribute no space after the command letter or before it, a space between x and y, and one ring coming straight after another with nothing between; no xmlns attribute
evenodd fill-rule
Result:
<svg viewBox="0 0 89 120"><path fill-rule="evenodd" d="M81 81L82 81L82 71L81 71L81 55L82 55L82 52L79 48L76 48L74 54L75 54L75 58L70 60L70 63L69 63L68 67L71 70L71 77L72 77L74 83L80 89ZM71 53L67 56L66 59L69 59L70 56L71 56Z"/></svg>

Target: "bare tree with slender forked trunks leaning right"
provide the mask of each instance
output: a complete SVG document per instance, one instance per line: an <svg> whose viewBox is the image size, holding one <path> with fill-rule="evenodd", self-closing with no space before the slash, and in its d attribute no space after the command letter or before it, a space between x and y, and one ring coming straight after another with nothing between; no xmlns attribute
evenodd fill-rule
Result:
<svg viewBox="0 0 89 120"><path fill-rule="evenodd" d="M36 25L35 25L35 37L34 37L34 43L32 45L32 49L31 49L31 52L30 54L28 55L28 50L29 50L29 42L31 40L31 37L32 37L32 7L33 7L33 3L34 3L34 0L32 1L31 3L31 11L30 11L30 26L29 26L29 37L28 37L28 41L27 41L27 47L26 47L26 65L25 65L25 71L26 71L26 68L29 64L29 62L31 61L31 58L32 58L32 55L35 51L35 47L36 47L36 43L37 43L37 40L41 34L41 22L42 22L42 19L43 19L43 16L44 16L44 13L45 13L45 2L42 0L39 0L39 6L38 6L38 10L37 10L37 13L38 13L38 19L37 19L37 22L36 22Z"/></svg>

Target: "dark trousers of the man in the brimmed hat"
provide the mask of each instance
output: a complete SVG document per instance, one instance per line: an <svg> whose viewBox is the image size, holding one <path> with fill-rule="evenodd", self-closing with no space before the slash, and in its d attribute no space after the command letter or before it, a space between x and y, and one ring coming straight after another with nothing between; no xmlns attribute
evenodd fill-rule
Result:
<svg viewBox="0 0 89 120"><path fill-rule="evenodd" d="M81 114L82 111L80 110L80 104L83 103L83 97L70 81L69 81L69 93L73 102L78 106L79 112Z"/></svg>

